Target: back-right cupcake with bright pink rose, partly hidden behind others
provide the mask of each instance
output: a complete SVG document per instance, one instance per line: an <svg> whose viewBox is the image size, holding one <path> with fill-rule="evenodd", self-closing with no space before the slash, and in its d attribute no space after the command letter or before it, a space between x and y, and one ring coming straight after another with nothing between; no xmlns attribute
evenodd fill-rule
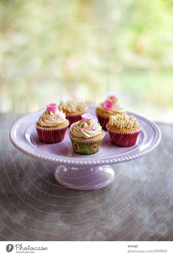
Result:
<svg viewBox="0 0 173 256"><path fill-rule="evenodd" d="M126 111L121 105L119 99L115 96L110 96L105 100L105 102L100 103L96 108L96 115L99 120L102 129L106 130L106 124L109 121L111 115L123 115Z"/></svg>

